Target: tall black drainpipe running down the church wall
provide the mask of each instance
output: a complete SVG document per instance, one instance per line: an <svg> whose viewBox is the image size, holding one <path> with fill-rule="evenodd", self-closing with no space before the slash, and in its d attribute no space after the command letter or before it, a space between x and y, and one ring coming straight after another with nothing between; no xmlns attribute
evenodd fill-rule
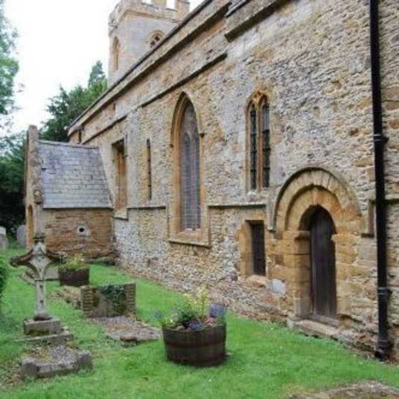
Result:
<svg viewBox="0 0 399 399"><path fill-rule="evenodd" d="M378 280L378 345L376 357L386 360L391 349L388 336L387 287L387 209L385 199L384 147L381 105L379 0L370 0L370 49L374 119L374 165L376 174L377 280Z"/></svg>

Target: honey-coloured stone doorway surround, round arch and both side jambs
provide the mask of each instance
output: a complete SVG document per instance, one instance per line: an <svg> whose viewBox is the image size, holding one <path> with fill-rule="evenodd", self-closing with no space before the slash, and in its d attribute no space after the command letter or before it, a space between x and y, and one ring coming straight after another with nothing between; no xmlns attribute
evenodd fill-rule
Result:
<svg viewBox="0 0 399 399"><path fill-rule="evenodd" d="M314 221L321 209L334 225L330 255L334 258L331 265L336 273L336 293L329 295L329 299L336 303L335 322L341 323L351 317L347 276L351 275L357 258L362 213L355 193L337 172L321 166L304 168L294 173L281 188L272 219L279 261L271 270L271 277L281 278L287 284L295 317L318 316L313 294L320 287L324 289L323 281L333 281L325 278L321 284L316 284L317 279L313 278L313 273L324 267L321 265L324 260L320 259L326 257L315 257L315 248L319 248L318 243L324 238L312 235L316 234ZM312 242L315 243L313 249Z"/></svg>

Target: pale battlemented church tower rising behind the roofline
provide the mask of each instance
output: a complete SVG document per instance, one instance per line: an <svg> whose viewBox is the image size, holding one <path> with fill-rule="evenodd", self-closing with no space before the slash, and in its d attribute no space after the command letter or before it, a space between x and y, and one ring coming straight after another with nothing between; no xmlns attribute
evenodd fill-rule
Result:
<svg viewBox="0 0 399 399"><path fill-rule="evenodd" d="M109 85L155 46L189 11L190 2L186 0L121 0L109 17Z"/></svg>

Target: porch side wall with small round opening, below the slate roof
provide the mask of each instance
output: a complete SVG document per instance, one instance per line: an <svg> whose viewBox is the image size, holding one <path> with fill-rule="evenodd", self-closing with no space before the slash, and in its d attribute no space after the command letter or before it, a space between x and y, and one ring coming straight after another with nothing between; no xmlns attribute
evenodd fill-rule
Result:
<svg viewBox="0 0 399 399"><path fill-rule="evenodd" d="M43 219L49 250L83 253L88 258L113 256L110 209L48 209Z"/></svg>

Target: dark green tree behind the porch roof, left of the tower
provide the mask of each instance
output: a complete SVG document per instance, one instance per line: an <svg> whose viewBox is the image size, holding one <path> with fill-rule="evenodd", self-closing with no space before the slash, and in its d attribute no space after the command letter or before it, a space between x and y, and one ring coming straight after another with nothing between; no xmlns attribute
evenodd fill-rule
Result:
<svg viewBox="0 0 399 399"><path fill-rule="evenodd" d="M68 141L68 126L95 101L107 88L107 80L100 61L91 69L87 88L75 86L67 92L62 86L59 93L50 98L47 111L51 118L42 129L40 137L44 140Z"/></svg>

